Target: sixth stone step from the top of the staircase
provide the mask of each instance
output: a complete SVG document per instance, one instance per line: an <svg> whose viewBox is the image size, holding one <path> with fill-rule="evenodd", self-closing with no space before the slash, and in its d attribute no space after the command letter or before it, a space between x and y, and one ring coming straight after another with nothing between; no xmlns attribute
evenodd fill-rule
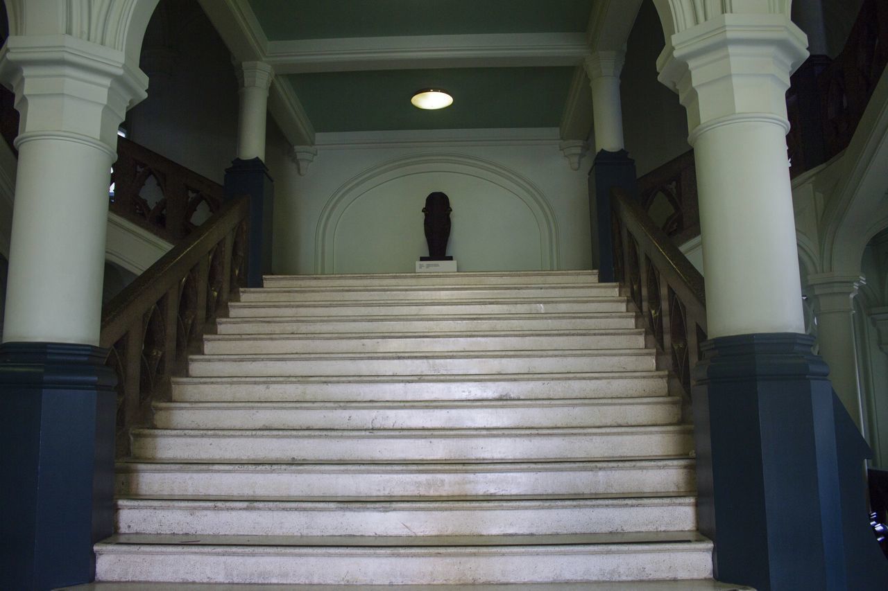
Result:
<svg viewBox="0 0 888 591"><path fill-rule="evenodd" d="M653 371L652 349L194 355L194 377L297 375L440 375Z"/></svg>

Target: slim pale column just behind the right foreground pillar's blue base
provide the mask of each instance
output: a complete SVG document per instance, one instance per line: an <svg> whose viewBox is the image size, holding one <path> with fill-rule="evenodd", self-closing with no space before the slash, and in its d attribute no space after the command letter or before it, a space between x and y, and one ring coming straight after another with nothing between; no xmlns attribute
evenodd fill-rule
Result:
<svg viewBox="0 0 888 591"><path fill-rule="evenodd" d="M863 424L863 415L852 298L862 284L860 275L818 273L808 276L807 290L817 319L820 354L829 365L829 381L858 428Z"/></svg>

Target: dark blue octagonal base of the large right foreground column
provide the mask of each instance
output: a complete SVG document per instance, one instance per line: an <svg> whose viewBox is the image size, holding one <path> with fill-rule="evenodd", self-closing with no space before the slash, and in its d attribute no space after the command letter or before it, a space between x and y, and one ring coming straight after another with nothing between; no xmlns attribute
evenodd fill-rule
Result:
<svg viewBox="0 0 888 591"><path fill-rule="evenodd" d="M703 345L694 370L701 532L716 577L759 591L884 589L868 526L869 448L806 335Z"/></svg>

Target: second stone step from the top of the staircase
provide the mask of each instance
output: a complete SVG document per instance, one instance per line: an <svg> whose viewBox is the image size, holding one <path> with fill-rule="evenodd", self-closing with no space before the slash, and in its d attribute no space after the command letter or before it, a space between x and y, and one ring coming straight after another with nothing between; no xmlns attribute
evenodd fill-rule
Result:
<svg viewBox="0 0 888 591"><path fill-rule="evenodd" d="M394 286L329 288L242 288L241 302L386 302L413 300L439 302L448 300L528 299L536 297L617 297L616 283L552 283L549 285L508 286Z"/></svg>

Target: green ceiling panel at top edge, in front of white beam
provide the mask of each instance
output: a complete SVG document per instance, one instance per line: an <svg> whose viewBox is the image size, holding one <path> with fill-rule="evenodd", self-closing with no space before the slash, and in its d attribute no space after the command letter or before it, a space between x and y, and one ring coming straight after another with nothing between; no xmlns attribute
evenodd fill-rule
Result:
<svg viewBox="0 0 888 591"><path fill-rule="evenodd" d="M591 0L250 0L269 41L582 33Z"/></svg>

